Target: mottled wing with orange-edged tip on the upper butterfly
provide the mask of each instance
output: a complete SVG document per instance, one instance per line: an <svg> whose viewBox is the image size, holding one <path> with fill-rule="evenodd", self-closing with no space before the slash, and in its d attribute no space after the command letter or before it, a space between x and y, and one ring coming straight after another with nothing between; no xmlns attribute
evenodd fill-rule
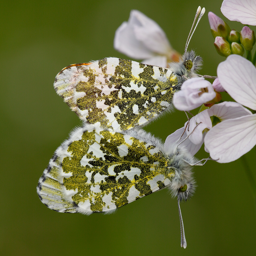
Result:
<svg viewBox="0 0 256 256"><path fill-rule="evenodd" d="M181 79L167 68L105 58L64 68L54 88L79 118L119 132L170 109Z"/></svg>

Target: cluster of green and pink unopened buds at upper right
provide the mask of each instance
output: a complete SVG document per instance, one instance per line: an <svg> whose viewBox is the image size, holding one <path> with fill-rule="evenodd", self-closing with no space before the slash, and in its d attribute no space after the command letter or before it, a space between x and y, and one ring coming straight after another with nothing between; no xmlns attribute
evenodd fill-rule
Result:
<svg viewBox="0 0 256 256"><path fill-rule="evenodd" d="M217 52L224 57L230 54L243 55L244 49L252 51L255 44L255 35L249 27L245 26L239 33L230 29L228 24L213 12L208 13L212 36L215 38L214 46Z"/></svg>

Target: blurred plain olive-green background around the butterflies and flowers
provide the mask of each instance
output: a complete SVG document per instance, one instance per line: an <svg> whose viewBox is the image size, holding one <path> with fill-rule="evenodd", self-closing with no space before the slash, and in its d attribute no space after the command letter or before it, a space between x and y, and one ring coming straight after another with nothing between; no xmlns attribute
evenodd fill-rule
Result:
<svg viewBox="0 0 256 256"><path fill-rule="evenodd" d="M80 121L55 93L56 74L73 63L125 55L113 48L132 9L155 20L183 53L198 5L205 16L191 40L204 60L200 74L216 75L225 60L213 46L207 14L222 0L1 1L1 224L2 255L254 255L255 198L239 159L194 168L198 188L181 204L188 247L180 248L177 200L164 189L110 215L64 214L42 204L39 177ZM224 95L224 100L230 100ZM163 141L183 126L180 111L145 129ZM203 148L198 158L207 157ZM246 155L255 174L255 152ZM254 175L255 177L255 175Z"/></svg>

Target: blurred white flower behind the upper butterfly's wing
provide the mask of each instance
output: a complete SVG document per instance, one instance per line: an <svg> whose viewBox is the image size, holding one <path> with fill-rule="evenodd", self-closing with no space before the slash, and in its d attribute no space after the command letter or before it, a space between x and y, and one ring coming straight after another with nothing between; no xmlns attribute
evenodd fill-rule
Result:
<svg viewBox="0 0 256 256"><path fill-rule="evenodd" d="M180 54L172 49L164 31L145 14L132 10L128 22L116 30L114 48L144 64L167 67L178 61Z"/></svg>

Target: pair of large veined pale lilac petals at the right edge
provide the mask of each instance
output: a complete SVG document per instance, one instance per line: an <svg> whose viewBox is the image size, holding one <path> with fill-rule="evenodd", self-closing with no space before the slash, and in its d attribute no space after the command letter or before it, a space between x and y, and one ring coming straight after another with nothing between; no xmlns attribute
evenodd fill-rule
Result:
<svg viewBox="0 0 256 256"><path fill-rule="evenodd" d="M256 68L245 58L233 54L217 69L220 83L229 95L256 110ZM219 104L220 105L220 104ZM207 132L204 143L213 159L228 163L250 151L256 144L256 114L231 118Z"/></svg>

